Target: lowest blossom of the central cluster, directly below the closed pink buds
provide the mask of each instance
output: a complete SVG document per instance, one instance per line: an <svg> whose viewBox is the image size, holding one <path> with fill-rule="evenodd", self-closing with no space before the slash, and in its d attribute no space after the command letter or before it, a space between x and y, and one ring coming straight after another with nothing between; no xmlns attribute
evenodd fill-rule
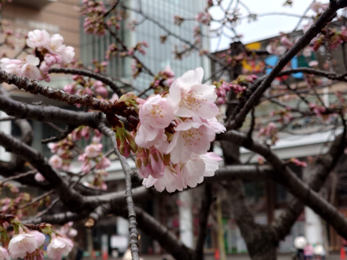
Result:
<svg viewBox="0 0 347 260"><path fill-rule="evenodd" d="M174 192L176 190L183 191L183 185L179 178L179 167L175 168L165 166L164 175L160 179L155 179L152 175L148 178L143 179L142 185L146 188L150 188L154 185L154 188L159 192L166 189L168 192Z"/></svg>

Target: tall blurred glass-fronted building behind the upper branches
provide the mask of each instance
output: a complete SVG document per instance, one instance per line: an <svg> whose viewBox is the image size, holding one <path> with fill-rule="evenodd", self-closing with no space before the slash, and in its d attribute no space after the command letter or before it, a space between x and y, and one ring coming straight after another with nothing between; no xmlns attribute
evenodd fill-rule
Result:
<svg viewBox="0 0 347 260"><path fill-rule="evenodd" d="M158 21L166 27L170 32L178 34L189 42L194 42L194 27L197 26L196 21L185 21L181 26L174 24L174 16L178 15L183 18L194 18L198 12L205 7L204 0L128 0L123 1L125 6L141 10L145 15ZM182 42L174 36L169 36L165 43L160 42L161 35L167 35L162 28L153 21L145 19L141 14L134 11L127 11L128 17L121 24L121 28L117 31L118 36L126 42L127 46L135 46L138 42L147 42L149 47L145 48L146 54L136 53L137 58L145 64L154 74L163 70L167 65L175 72L176 77L182 75L189 69L203 67L205 69L205 77L210 74L210 66L206 58L201 57L198 52L194 51L190 55L183 57L182 60L175 59L173 53L175 46L179 50L182 49ZM137 20L139 25L135 31L127 28L126 25ZM81 23L81 31L83 30ZM206 28L201 28L206 29ZM209 49L207 39L203 39L203 49ZM104 60L105 51L111 43L116 43L115 39L107 33L105 36L86 35L81 32L81 59L84 64L90 64L93 59L99 61ZM145 89L149 86L153 78L146 73L135 80L132 79L132 70L130 65L133 61L129 58L112 58L109 61L108 73L112 77L121 77L127 79L138 89Z"/></svg>

